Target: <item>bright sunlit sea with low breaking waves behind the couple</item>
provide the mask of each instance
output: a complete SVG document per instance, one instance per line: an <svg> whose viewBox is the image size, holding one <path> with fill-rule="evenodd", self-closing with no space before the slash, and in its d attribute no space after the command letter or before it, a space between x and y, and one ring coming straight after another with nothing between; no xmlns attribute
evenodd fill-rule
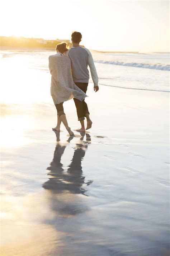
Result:
<svg viewBox="0 0 170 256"><path fill-rule="evenodd" d="M51 102L48 56L55 51L1 50L1 102ZM169 53L92 51L99 86L170 91ZM89 86L93 84L90 77ZM10 92L10 93L9 93Z"/></svg>

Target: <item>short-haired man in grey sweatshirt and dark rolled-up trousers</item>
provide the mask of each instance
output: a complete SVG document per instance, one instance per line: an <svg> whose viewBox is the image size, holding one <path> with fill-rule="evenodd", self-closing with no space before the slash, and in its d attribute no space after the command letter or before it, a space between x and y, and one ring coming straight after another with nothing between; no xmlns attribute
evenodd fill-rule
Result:
<svg viewBox="0 0 170 256"><path fill-rule="evenodd" d="M82 35L80 32L72 32L71 41L72 47L66 51L65 55L67 55L71 60L71 69L72 69L72 77L74 83L82 90L84 93L87 91L88 83L89 83L89 71L88 66L90 67L91 77L94 83L94 91L97 92L99 90L98 86L98 75L96 72L96 68L94 65L93 57L90 51L82 46L80 46ZM88 105L86 102L77 100L74 98L74 102L76 105L78 121L81 123L81 128L77 129L77 131L85 133L84 120L85 117L87 119L87 127L86 130L90 129L92 126L92 121L89 117Z"/></svg>

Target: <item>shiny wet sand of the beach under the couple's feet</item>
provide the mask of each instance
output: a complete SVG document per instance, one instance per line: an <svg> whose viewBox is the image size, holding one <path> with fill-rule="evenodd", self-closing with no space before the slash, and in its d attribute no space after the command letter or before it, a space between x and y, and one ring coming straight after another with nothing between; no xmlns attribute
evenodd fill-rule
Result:
<svg viewBox="0 0 170 256"><path fill-rule="evenodd" d="M169 94L90 86L74 137L53 104L1 106L2 256L169 255Z"/></svg>

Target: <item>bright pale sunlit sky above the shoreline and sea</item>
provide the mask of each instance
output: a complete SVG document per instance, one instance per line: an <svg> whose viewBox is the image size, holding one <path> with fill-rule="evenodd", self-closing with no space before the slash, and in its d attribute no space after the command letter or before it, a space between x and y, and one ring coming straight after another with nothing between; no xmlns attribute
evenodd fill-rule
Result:
<svg viewBox="0 0 170 256"><path fill-rule="evenodd" d="M101 51L169 52L169 1L4 0L0 36L71 39Z"/></svg>

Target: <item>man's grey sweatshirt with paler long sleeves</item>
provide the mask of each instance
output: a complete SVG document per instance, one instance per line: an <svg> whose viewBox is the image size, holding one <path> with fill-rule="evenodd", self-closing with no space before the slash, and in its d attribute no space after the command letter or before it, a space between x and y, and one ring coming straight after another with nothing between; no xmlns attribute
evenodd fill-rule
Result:
<svg viewBox="0 0 170 256"><path fill-rule="evenodd" d="M71 60L72 77L74 82L89 82L89 65L94 86L98 86L98 75L93 57L87 48L82 46L71 47L68 51L66 51L65 55Z"/></svg>

